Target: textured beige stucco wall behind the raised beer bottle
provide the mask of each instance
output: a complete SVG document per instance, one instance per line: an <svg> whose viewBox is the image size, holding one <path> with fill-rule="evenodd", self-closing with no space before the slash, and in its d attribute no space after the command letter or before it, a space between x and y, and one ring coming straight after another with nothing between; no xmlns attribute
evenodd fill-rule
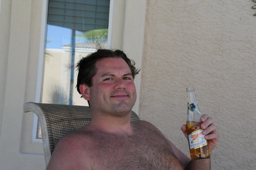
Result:
<svg viewBox="0 0 256 170"><path fill-rule="evenodd" d="M194 86L215 118L213 170L256 169L256 5L246 0L148 0L139 117L189 154L181 132Z"/></svg>

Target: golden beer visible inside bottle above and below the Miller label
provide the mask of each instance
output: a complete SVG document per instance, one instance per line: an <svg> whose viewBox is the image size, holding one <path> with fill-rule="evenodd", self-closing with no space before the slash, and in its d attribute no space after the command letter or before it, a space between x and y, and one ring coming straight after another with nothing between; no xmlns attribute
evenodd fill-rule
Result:
<svg viewBox="0 0 256 170"><path fill-rule="evenodd" d="M186 129L187 129L187 134L190 134L194 131L198 131L201 128L202 122L187 122ZM207 142L207 140L206 140ZM188 143L188 146L190 144ZM189 148L190 149L190 148ZM210 151L208 145L199 147L199 148L193 148L190 151L190 157L191 159L205 159L205 158L210 158Z"/></svg>

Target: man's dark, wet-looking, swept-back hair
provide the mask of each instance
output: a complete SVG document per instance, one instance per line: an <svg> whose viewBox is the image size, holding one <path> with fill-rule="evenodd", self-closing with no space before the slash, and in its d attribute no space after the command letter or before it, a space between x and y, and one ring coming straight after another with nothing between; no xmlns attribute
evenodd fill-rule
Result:
<svg viewBox="0 0 256 170"><path fill-rule="evenodd" d="M76 65L76 70L78 70L78 76L77 76L77 84L76 89L79 94L81 94L79 86L86 84L89 87L91 87L92 84L92 77L96 75L97 68L96 68L96 62L103 58L122 58L124 61L128 64L131 73L133 75L133 79L135 76L139 73L140 69L136 69L135 62L129 58L127 58L126 54L124 54L121 50L97 50L95 53L91 53L87 55L86 57L83 57L78 61ZM82 98L83 96L81 96ZM88 104L90 106L90 103L88 101Z"/></svg>

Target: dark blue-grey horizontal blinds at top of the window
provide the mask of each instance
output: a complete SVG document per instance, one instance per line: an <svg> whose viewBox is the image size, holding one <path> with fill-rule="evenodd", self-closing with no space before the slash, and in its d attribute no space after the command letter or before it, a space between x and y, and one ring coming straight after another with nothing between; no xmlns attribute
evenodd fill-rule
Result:
<svg viewBox="0 0 256 170"><path fill-rule="evenodd" d="M108 28L110 0L49 0L50 25L78 31Z"/></svg>

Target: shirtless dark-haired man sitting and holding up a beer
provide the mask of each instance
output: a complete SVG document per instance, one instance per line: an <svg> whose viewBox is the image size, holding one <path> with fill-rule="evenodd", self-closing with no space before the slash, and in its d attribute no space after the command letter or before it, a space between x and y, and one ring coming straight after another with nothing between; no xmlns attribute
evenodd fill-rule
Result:
<svg viewBox="0 0 256 170"><path fill-rule="evenodd" d="M130 123L138 70L122 51L98 50L77 68L77 90L88 100L92 120L58 142L47 170L210 169L210 159L191 161L151 123ZM219 139L213 118L203 115L201 121L213 150ZM181 130L186 136L185 125Z"/></svg>

